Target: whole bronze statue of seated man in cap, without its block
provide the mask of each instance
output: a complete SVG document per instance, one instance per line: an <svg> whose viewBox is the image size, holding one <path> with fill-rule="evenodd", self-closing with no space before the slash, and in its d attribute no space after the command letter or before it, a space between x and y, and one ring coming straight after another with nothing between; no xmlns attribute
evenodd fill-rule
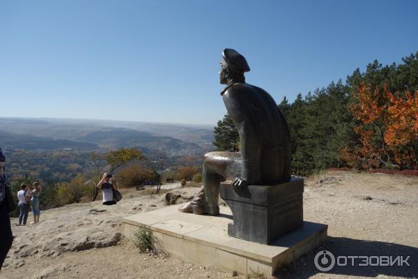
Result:
<svg viewBox="0 0 418 279"><path fill-rule="evenodd" d="M291 178L291 140L284 116L272 96L245 83L249 71L244 56L232 49L222 52L220 83L226 110L240 135L240 153L206 153L203 188L189 204L178 210L195 214L219 214L219 187L233 178L240 192L248 185L272 185Z"/></svg>

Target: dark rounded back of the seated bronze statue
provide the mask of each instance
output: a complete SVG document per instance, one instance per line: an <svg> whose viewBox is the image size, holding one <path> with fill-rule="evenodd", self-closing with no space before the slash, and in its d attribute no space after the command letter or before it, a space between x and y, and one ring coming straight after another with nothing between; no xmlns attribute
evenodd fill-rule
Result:
<svg viewBox="0 0 418 279"><path fill-rule="evenodd" d="M261 169L260 183L274 183L290 179L291 163L291 140L288 126L284 116L279 111L276 102L269 93L263 89L250 84L235 84L228 89L224 96L226 107L228 103L239 103L240 112L230 112L238 131L242 119L238 121L234 114L245 116L246 126L250 126L250 135L240 133L241 142L247 139L242 137L255 137L257 146L251 149L258 149L259 158L246 158L254 160L254 165ZM253 142L253 141L251 141ZM252 153L254 156L254 153ZM258 161L258 162L257 162Z"/></svg>

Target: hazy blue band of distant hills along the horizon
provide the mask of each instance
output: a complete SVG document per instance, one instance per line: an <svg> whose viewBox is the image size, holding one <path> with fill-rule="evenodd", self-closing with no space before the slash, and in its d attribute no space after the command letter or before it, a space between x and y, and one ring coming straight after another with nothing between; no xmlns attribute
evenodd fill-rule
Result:
<svg viewBox="0 0 418 279"><path fill-rule="evenodd" d="M137 147L144 153L167 151L169 156L203 155L212 150L213 140L211 126L85 119L0 118L0 133L3 149Z"/></svg>

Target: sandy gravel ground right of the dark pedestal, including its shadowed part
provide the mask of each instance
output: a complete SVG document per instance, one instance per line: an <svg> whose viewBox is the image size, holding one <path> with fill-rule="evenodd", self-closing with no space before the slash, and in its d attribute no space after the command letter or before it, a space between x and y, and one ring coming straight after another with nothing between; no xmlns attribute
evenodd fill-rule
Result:
<svg viewBox="0 0 418 279"><path fill-rule="evenodd" d="M280 278L418 278L418 177L326 172L306 181L304 219L329 225L328 239ZM320 273L320 250L338 256L398 256L410 266L335 266ZM349 262L351 264L351 262Z"/></svg>

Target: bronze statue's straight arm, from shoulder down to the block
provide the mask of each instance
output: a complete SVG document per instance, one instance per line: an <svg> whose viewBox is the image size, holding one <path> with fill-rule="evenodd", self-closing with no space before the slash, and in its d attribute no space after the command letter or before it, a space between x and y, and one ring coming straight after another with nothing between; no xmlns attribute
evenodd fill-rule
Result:
<svg viewBox="0 0 418 279"><path fill-rule="evenodd" d="M229 90L224 94L226 110L231 116L240 135L242 169L240 179L246 184L261 182L261 148L256 133L256 125L251 119L251 102L246 94L238 90Z"/></svg>

